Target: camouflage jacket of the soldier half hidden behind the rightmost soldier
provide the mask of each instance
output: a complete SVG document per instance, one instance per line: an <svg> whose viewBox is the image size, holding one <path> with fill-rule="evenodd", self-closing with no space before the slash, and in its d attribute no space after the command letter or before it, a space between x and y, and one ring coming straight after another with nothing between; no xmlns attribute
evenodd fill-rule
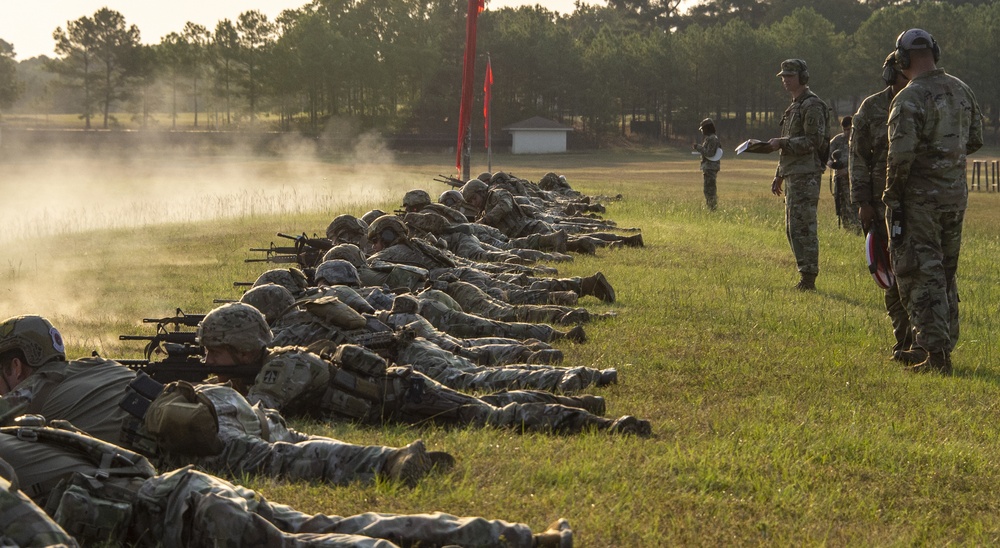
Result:
<svg viewBox="0 0 1000 548"><path fill-rule="evenodd" d="M854 114L851 129L851 203L878 206L885 191L885 160L889 150L889 104L892 88L868 96Z"/></svg>

